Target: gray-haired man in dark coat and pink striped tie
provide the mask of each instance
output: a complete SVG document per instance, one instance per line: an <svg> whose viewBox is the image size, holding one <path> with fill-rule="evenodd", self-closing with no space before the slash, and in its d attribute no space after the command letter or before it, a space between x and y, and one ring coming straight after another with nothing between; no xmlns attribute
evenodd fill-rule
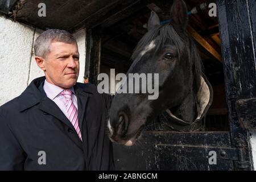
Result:
<svg viewBox="0 0 256 182"><path fill-rule="evenodd" d="M67 31L47 30L34 50L45 77L0 107L0 170L113 169L106 130L112 99L76 82L76 40Z"/></svg>

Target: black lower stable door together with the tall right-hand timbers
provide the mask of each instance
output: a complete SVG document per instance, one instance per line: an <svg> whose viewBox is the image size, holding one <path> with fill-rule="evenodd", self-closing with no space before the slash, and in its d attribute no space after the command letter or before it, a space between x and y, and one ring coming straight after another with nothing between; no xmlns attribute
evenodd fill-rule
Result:
<svg viewBox="0 0 256 182"><path fill-rule="evenodd" d="M255 0L216 2L230 132L144 132L133 147L114 145L117 169L253 169L248 129L256 127Z"/></svg>

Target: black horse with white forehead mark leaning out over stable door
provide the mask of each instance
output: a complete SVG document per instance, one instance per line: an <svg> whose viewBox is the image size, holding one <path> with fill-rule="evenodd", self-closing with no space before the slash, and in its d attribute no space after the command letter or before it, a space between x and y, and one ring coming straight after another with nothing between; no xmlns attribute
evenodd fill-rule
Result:
<svg viewBox="0 0 256 182"><path fill-rule="evenodd" d="M183 1L174 1L172 22L160 24L152 11L148 32L138 43L128 73L159 73L159 97L116 94L109 112L110 139L130 146L147 126L157 130L199 131L212 102L212 88L202 75L201 59L186 31Z"/></svg>

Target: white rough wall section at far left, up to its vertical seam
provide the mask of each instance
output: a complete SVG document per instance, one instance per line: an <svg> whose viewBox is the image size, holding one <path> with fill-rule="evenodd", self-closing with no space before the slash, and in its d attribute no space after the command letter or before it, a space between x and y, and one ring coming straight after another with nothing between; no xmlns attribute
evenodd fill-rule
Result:
<svg viewBox="0 0 256 182"><path fill-rule="evenodd" d="M34 28L0 16L0 105L27 87Z"/></svg>

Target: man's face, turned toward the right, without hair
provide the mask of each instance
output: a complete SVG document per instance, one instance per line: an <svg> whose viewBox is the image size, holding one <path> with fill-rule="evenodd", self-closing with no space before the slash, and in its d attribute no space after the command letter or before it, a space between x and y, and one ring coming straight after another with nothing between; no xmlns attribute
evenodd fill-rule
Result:
<svg viewBox="0 0 256 182"><path fill-rule="evenodd" d="M79 52L76 44L52 42L44 61L46 80L63 89L76 84L79 76Z"/></svg>

